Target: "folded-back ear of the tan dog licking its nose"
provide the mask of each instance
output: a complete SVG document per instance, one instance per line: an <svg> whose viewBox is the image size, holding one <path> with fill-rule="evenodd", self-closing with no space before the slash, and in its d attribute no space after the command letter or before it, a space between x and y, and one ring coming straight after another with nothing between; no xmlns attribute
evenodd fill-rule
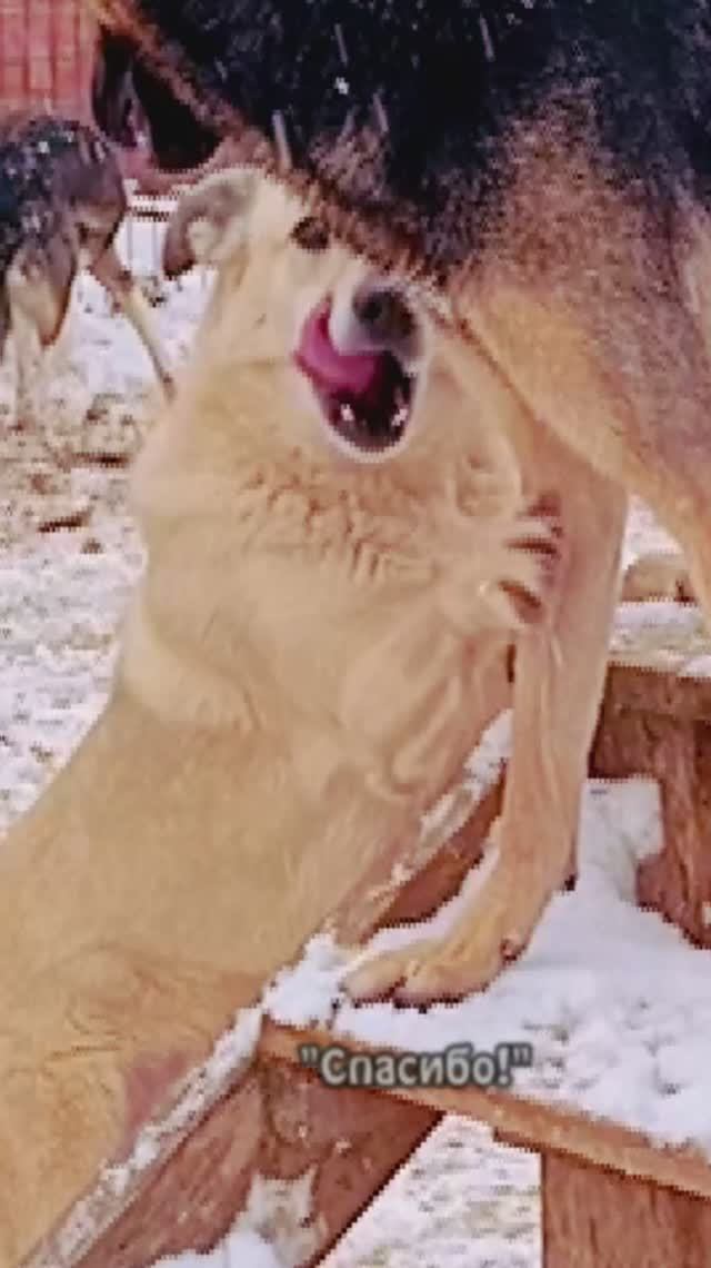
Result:
<svg viewBox="0 0 711 1268"><path fill-rule="evenodd" d="M163 240L166 278L179 278L194 264L223 264L245 245L259 179L250 167L232 167L184 194Z"/></svg>

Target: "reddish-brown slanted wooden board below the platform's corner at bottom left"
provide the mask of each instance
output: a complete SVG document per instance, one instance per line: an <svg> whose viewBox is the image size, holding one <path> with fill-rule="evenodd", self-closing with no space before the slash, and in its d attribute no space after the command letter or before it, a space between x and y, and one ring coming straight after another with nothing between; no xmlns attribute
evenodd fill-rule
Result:
<svg viewBox="0 0 711 1268"><path fill-rule="evenodd" d="M279 1264L302 1264L337 1240L440 1115L375 1092L333 1097L316 1075L260 1058L103 1235L71 1245L72 1225L33 1268L146 1268L204 1252L229 1230L264 1238ZM251 1268L246 1260L245 1268Z"/></svg>

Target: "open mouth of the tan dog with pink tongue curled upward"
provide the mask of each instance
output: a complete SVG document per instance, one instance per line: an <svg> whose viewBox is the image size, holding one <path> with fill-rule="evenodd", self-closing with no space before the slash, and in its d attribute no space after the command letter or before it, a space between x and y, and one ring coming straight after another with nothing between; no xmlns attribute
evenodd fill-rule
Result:
<svg viewBox="0 0 711 1268"><path fill-rule="evenodd" d="M332 431L365 456L384 454L408 429L416 377L390 351L341 353L330 317L330 303L309 313L294 359Z"/></svg>

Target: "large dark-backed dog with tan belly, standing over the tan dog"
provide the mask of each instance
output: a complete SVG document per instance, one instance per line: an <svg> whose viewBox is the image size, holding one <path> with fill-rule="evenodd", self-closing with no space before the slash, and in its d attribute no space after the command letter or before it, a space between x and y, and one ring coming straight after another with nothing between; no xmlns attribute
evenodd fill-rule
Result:
<svg viewBox="0 0 711 1268"><path fill-rule="evenodd" d="M95 8L104 23L95 110L109 132L120 93L139 93L137 56L152 85L141 110L158 158L170 118L188 104L205 127L232 134L242 158L311 198L356 250L433 283L461 331L463 387L477 392L466 356L477 341L610 498L632 489L657 510L711 618L707 0ZM190 143L183 161L194 161ZM582 775L621 520L599 491L597 500L561 492L573 581L555 637L570 677L541 668L537 706L551 770L559 749L574 751ZM568 866L575 812L554 785L541 770L534 808L507 790L502 867L518 914L516 928L490 922L499 962L526 941ZM526 867L523 838L537 851ZM454 980L459 990L450 978L445 962L437 989Z"/></svg>

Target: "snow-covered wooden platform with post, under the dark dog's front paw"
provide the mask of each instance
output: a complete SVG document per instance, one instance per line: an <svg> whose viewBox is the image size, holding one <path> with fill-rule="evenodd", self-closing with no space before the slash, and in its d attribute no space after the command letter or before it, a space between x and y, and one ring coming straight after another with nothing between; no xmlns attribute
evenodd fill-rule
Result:
<svg viewBox="0 0 711 1268"><path fill-rule="evenodd" d="M294 1061L304 1046L330 1045L349 1059L381 1060L388 1050L432 1054L463 1042L492 1051L497 1040L521 1038L523 1022L534 1056L516 1087L394 1094L469 1115L542 1154L545 1268L707 1263L711 955L635 905L634 865L649 860L654 844L645 810L654 791L646 780L591 787L575 893L554 900L530 951L485 995L426 1016L387 1004L354 1009L338 1000L341 969L335 965L328 981L319 946L312 960L326 971L309 974L307 956L278 984L271 1008L294 1021L299 1000L308 1000L321 1027L262 1032L262 1046ZM664 822L674 831L674 819ZM696 879L687 874L692 893ZM422 932L433 933L432 922Z"/></svg>

